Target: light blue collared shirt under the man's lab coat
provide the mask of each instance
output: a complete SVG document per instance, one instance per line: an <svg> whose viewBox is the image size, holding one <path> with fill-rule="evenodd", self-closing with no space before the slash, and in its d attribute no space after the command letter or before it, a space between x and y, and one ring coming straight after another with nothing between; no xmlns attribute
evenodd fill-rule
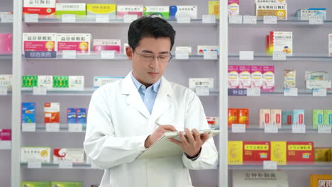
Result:
<svg viewBox="0 0 332 187"><path fill-rule="evenodd" d="M131 79L133 79L133 83L138 89L138 93L140 93L140 97L142 98L143 103L145 104L146 108L148 108L148 111L151 114L153 110L153 105L155 104L155 98L157 97L159 91L160 79L148 88L146 88L137 79L135 79L135 77L133 77L133 73L131 73Z"/></svg>

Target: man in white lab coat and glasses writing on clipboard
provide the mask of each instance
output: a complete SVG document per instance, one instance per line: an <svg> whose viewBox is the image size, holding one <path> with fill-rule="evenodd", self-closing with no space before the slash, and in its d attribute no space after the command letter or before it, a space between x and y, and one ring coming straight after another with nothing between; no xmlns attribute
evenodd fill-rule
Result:
<svg viewBox="0 0 332 187"><path fill-rule="evenodd" d="M104 169L101 187L189 187L188 169L216 168L214 140L198 132L209 128L199 98L162 77L174 40L162 18L133 21L126 48L133 71L92 95L84 150ZM182 141L170 141L182 147L182 157L135 160L166 131L180 131Z"/></svg>

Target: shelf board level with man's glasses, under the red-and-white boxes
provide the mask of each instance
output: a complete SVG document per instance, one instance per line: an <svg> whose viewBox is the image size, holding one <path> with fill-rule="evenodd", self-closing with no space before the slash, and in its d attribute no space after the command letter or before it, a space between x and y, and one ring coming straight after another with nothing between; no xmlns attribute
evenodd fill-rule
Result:
<svg viewBox="0 0 332 187"><path fill-rule="evenodd" d="M1 59L1 57L0 57ZM62 54L58 54L57 57L55 58L25 58L26 60L128 60L127 55L115 55L114 58L104 58L101 57L100 53L92 53L89 55L80 55L77 54L75 58L63 58ZM173 60L177 60L177 58L175 56L173 56L172 61ZM189 59L187 60L204 60L204 56L203 55L189 55ZM182 60L184 61L184 60Z"/></svg>

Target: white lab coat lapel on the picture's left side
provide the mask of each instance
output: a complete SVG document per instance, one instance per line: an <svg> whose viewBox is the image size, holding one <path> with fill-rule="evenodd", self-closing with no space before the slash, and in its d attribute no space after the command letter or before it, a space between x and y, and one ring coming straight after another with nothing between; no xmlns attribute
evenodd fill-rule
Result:
<svg viewBox="0 0 332 187"><path fill-rule="evenodd" d="M148 108L146 108L135 84L133 84L133 80L131 79L131 73L128 74L121 83L121 94L128 95L126 103L129 106L135 108L138 112L144 115L145 118L150 118Z"/></svg>

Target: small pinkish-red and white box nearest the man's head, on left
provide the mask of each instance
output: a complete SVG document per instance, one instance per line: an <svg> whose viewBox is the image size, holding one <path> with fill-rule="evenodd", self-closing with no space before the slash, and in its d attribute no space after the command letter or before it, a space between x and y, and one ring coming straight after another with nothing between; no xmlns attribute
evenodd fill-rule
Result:
<svg viewBox="0 0 332 187"><path fill-rule="evenodd" d="M103 51L103 50L113 50L117 54L121 52L121 40L99 40L94 39L93 41L93 50L96 51Z"/></svg>

